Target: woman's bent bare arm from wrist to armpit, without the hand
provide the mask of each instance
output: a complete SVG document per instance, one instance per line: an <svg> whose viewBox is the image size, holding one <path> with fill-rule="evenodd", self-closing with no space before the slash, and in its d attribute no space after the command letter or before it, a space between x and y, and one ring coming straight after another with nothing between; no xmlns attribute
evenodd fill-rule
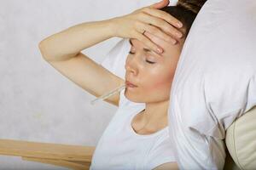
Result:
<svg viewBox="0 0 256 170"><path fill-rule="evenodd" d="M98 65L80 50L113 37L111 20L83 23L45 38L39 43L44 59L57 71L96 97L119 87L124 80ZM119 104L119 94L106 99Z"/></svg>

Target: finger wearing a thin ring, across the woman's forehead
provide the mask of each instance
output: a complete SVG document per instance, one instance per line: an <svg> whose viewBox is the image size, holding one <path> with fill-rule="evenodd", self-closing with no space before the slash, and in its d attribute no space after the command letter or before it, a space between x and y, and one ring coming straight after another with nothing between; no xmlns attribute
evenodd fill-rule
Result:
<svg viewBox="0 0 256 170"><path fill-rule="evenodd" d="M166 34L164 31L161 31L158 27L150 26L146 23L143 23L143 27L145 27L145 31L150 32L156 37L160 37L161 39L165 40L166 42L172 42L175 44L177 41L172 38L170 35Z"/></svg>

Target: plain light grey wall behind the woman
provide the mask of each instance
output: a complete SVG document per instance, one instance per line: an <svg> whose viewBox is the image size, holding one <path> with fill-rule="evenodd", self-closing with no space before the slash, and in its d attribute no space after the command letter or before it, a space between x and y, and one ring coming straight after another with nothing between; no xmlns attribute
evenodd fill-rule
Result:
<svg viewBox="0 0 256 170"><path fill-rule="evenodd" d="M0 0L0 139L96 145L117 107L90 105L95 97L45 62L38 42L69 26L128 14L155 2ZM101 62L118 41L113 37L83 53ZM0 156L1 170L38 168L67 169Z"/></svg>

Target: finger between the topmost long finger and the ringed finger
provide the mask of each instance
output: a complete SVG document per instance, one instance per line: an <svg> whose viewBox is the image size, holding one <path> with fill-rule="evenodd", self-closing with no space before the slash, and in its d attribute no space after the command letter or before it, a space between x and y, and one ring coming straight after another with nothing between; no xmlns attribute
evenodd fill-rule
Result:
<svg viewBox="0 0 256 170"><path fill-rule="evenodd" d="M182 36L182 32L177 31L175 27L168 24L165 20L161 20L160 18L141 13L138 16L138 19L140 19L144 23L148 23L153 26L160 27L161 30L166 31L166 33L168 33L169 35L172 35L172 37L176 37L177 39L180 38L179 35Z"/></svg>

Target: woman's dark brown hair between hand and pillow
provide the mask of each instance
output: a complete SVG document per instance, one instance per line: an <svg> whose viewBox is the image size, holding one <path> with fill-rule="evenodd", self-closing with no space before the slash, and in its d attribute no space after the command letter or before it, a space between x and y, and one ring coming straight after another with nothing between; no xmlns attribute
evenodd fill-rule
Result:
<svg viewBox="0 0 256 170"><path fill-rule="evenodd" d="M189 34L190 27L192 26L196 15L199 13L201 7L206 3L207 0L178 0L176 6L166 6L160 8L168 14L172 14L173 17L177 18L183 23L185 34L183 37L187 37Z"/></svg>

